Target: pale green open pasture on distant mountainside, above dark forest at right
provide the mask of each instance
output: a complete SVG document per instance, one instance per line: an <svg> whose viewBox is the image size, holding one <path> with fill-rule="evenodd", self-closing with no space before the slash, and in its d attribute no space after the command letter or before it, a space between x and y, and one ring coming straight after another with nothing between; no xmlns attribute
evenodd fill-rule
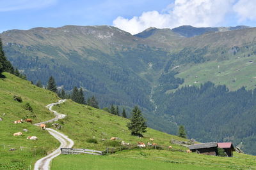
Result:
<svg viewBox="0 0 256 170"><path fill-rule="evenodd" d="M253 61L253 63L249 61ZM246 87L246 89L255 89L255 71L255 57L241 57L239 59L230 59L220 62L211 61L186 66L180 68L180 73L176 76L184 78L185 80L180 87L184 85L200 85L200 83L212 81L216 85L227 85L230 90L237 90L243 86ZM195 83L195 81L198 81L198 83Z"/></svg>

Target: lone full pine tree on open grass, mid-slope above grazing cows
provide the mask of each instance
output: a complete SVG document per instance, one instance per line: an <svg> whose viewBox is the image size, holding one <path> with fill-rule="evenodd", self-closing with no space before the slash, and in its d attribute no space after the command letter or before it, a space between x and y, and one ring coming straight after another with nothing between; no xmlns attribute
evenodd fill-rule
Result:
<svg viewBox="0 0 256 170"><path fill-rule="evenodd" d="M131 122L127 124L128 129L131 131L131 135L143 136L142 134L147 132L146 130L147 124L138 106L134 107L131 115L132 115Z"/></svg>

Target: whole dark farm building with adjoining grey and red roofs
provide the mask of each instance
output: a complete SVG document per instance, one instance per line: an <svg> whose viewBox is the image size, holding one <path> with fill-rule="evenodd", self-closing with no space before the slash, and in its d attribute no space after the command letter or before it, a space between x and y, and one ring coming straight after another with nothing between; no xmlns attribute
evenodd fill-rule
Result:
<svg viewBox="0 0 256 170"><path fill-rule="evenodd" d="M189 146L189 150L191 150L192 152L196 152L204 155L218 155L218 148L223 148L228 157L232 157L233 151L235 151L235 148L231 142L230 143L209 142L209 143L200 143L200 144Z"/></svg>

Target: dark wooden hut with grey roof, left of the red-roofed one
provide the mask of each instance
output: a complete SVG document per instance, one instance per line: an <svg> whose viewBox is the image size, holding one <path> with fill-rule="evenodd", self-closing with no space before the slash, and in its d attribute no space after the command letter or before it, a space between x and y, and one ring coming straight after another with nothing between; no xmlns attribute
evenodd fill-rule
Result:
<svg viewBox="0 0 256 170"><path fill-rule="evenodd" d="M200 143L195 145L190 145L189 150L192 152L204 154L204 155L217 155L218 148L216 142L209 142L209 143Z"/></svg>

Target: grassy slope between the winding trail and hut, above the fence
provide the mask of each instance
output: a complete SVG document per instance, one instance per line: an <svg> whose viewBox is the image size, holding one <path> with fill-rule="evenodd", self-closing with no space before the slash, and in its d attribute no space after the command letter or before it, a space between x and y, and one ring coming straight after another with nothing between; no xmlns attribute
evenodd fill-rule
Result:
<svg viewBox="0 0 256 170"><path fill-rule="evenodd" d="M137 138L131 136L131 132L127 129L126 125L129 121L126 118L118 117L107 113L106 111L98 110L90 106L84 106L74 103L73 101L66 101L59 106L54 106L53 110L59 113L65 113L66 118L59 121L63 126L61 132L68 135L69 138L75 142L75 148L93 148L97 150L106 149L106 142L111 137L121 138L121 141L137 145L137 143L147 143L149 138L154 138L154 143L157 145L169 146L171 139L184 141L186 139L179 138L164 132L159 132L154 129L148 128L148 132L144 134L145 138ZM98 143L88 143L87 139L97 139ZM106 139L106 141L102 141ZM186 148L173 145L174 148L186 150Z"/></svg>

